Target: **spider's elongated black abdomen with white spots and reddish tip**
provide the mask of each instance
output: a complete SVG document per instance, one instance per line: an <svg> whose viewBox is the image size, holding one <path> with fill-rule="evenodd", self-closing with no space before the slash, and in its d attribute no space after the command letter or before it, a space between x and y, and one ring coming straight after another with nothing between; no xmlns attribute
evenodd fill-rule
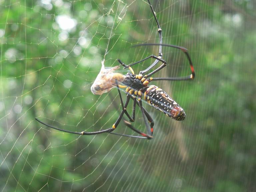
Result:
<svg viewBox="0 0 256 192"><path fill-rule="evenodd" d="M155 85L150 85L146 89L144 99L174 120L181 121L186 117L185 111L165 91Z"/></svg>

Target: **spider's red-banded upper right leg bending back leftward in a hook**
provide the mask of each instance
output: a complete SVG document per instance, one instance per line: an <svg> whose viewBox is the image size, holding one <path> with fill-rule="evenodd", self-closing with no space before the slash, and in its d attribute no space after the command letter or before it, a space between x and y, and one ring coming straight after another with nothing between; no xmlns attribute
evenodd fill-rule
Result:
<svg viewBox="0 0 256 192"><path fill-rule="evenodd" d="M158 44L149 43L149 44L137 44L137 45L134 45L134 46L145 46L145 45L158 45ZM173 48L176 48L176 49L180 49L183 53L185 53L185 55L186 55L186 57L187 57L187 59L189 61L189 65L190 65L190 69L191 69L191 74L188 75L188 76L184 76L184 77L153 78L150 81L157 81L157 80L192 80L192 79L194 79L195 78L195 70L194 70L194 66L193 66L192 60L190 58L190 55L188 53L188 50L185 47L180 47L180 46L177 46L177 45L162 44L162 46L173 47ZM150 77L153 74L155 74L156 72L158 72L159 70L161 70L162 68L160 66L159 68L157 68L156 70L152 71L151 73L149 73L149 74L147 74L145 76L146 77Z"/></svg>

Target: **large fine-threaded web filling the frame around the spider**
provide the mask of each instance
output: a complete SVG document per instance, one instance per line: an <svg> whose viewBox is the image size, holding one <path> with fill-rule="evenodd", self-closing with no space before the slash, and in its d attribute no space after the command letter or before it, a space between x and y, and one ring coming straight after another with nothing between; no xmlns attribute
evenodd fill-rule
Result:
<svg viewBox="0 0 256 192"><path fill-rule="evenodd" d="M146 1L0 0L1 191L256 189L255 101L247 103L255 91L250 79L256 50L247 46L256 39L255 3L151 3L163 43L188 48L196 79L154 83L187 117L177 122L143 103L155 122L148 141L107 133L77 136L34 120L76 132L112 127L121 112L117 90L98 96L90 87L102 61L113 67L116 59L129 64L158 54L157 46L131 47L159 42ZM154 77L191 73L181 51L163 47L163 58L168 66ZM138 73L152 62L133 69ZM127 110L131 114L132 103ZM132 124L146 131L139 108ZM122 121L115 132L137 135Z"/></svg>

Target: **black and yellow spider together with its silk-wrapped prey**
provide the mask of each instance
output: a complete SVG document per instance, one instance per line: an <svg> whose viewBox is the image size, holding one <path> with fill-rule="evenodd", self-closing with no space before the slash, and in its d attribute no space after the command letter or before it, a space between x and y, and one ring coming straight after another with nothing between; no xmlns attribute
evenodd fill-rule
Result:
<svg viewBox="0 0 256 192"><path fill-rule="evenodd" d="M94 131L94 132L72 132L72 131L67 131L63 129L59 129L56 127L53 127L51 125L47 125L44 122L36 120L43 125L46 125L48 127L51 127L53 129L67 132L67 133L73 133L73 134L78 134L78 135L96 135L96 134L101 134L101 133L111 133L115 135L121 135L121 136L127 136L127 137L133 137L133 138L142 138L142 139L152 139L153 138L153 126L154 126L154 121L150 114L146 111L146 109L142 106L142 98L152 107L160 110L164 114L166 114L168 117L173 118L174 120L181 121L184 120L186 117L185 111L177 104L165 91L163 91L161 88L158 88L155 85L149 85L151 81L160 81L160 80L193 80L195 78L195 71L194 67L191 61L191 58L188 54L188 50L184 47L176 46L176 45L167 45L167 44L162 44L162 29L160 28L159 22L156 18L156 13L153 10L153 7L148 0L148 4L150 6L150 9L153 13L154 19L156 21L157 27L158 27L158 34L159 34L159 44L137 44L135 46L141 46L141 45L159 45L159 54L158 56L155 55L150 55L140 61L137 61L135 63L132 63L130 65L125 65L120 59L118 59L118 62L120 65L122 65L125 69L128 68L130 72L128 72L126 75L123 75L121 73L114 73L116 69L119 68L119 66L115 66L111 69L105 69L104 64L102 63L102 69L99 75L97 76L96 80L94 81L91 91L93 94L96 95L101 95L103 93L106 93L110 91L112 88L117 87L118 89L118 94L120 97L121 105L122 105L122 112L119 115L118 119L116 122L113 124L112 128L105 129L105 130L100 130L100 131ZM159 78L153 78L151 77L153 74L156 72L160 71L163 69L167 63L165 60L162 59L162 46L168 46L168 47L173 47L176 49L180 49L183 51L189 61L190 69L191 69L191 74L188 76L184 77L159 77ZM139 74L135 74L132 67L133 65L136 65L140 62L143 62L147 59L153 58L155 61L145 70L142 70L139 72ZM152 72L148 73L149 70L151 70L153 67L156 66L158 62L161 62L161 66L153 70ZM148 73L148 74L146 74ZM126 101L123 103L122 96L120 89L125 89L126 93ZM126 107L128 106L128 103L130 99L133 100L133 111L132 111L132 116L130 116L126 110ZM134 128L130 122L134 122L135 120L135 109L136 105L139 106L143 120L146 125L146 130L147 133L143 133L139 131L138 129ZM126 126L128 126L130 129L133 131L137 132L141 136L134 136L134 135L125 135L125 134L119 134L119 133L112 133L114 131L118 124L120 123L123 115L126 114L126 116L129 118L130 122L125 121L124 123Z"/></svg>

